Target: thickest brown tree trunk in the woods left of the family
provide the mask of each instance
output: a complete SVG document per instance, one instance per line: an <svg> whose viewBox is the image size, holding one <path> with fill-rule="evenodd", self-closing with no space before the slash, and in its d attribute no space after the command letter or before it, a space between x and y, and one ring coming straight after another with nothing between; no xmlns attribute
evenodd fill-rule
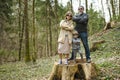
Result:
<svg viewBox="0 0 120 80"><path fill-rule="evenodd" d="M29 52L29 28L28 28L28 0L24 0L24 26L25 26L25 61L29 62L30 52Z"/></svg>

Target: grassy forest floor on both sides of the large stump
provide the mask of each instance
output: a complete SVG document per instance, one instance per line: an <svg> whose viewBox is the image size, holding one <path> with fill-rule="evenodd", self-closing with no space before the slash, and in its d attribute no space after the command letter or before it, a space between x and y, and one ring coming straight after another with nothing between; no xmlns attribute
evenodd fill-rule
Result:
<svg viewBox="0 0 120 80"><path fill-rule="evenodd" d="M92 62L99 69L98 80L120 80L120 24L89 37L90 44L104 40L91 52ZM9 62L0 65L0 80L47 80L58 56L38 59L35 64Z"/></svg>

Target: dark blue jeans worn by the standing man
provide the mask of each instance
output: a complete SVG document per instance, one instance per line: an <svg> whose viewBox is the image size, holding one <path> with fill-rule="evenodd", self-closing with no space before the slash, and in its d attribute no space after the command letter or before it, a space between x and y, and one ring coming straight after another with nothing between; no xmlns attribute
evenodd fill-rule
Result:
<svg viewBox="0 0 120 80"><path fill-rule="evenodd" d="M90 59L90 49L88 46L88 35L87 32L81 32L79 33L79 37L81 38L81 41L83 43L83 46L85 48L85 54L86 54L86 59Z"/></svg>

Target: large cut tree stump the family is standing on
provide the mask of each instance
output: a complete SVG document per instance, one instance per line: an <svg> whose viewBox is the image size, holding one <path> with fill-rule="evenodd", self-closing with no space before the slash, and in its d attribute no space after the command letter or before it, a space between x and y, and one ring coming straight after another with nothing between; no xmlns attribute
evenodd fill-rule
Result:
<svg viewBox="0 0 120 80"><path fill-rule="evenodd" d="M48 80L93 80L97 76L94 63L86 63L76 59L76 63L70 61L68 65L55 63Z"/></svg>

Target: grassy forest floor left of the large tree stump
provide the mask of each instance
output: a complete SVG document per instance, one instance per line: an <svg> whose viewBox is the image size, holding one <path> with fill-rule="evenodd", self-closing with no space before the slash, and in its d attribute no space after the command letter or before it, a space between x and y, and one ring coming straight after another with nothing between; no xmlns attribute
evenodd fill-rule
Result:
<svg viewBox="0 0 120 80"><path fill-rule="evenodd" d="M0 65L0 80L43 80L51 73L56 57L41 58L35 64L15 62Z"/></svg>

